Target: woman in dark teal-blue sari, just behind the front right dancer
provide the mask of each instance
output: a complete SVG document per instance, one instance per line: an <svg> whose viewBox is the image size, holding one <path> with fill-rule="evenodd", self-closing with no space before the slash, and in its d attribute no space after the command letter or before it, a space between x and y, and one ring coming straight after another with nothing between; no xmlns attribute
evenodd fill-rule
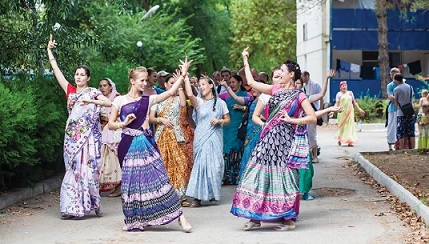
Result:
<svg viewBox="0 0 429 244"><path fill-rule="evenodd" d="M229 79L232 92L238 97L253 99L252 95L243 87L243 79L239 75L233 75ZM226 102L231 123L223 127L223 155L225 159L225 173L223 183L225 185L236 185L238 183L238 172L240 170L241 149L243 141L238 139L238 129L240 128L243 114L247 107L237 104L228 92L219 95L219 98Z"/></svg>

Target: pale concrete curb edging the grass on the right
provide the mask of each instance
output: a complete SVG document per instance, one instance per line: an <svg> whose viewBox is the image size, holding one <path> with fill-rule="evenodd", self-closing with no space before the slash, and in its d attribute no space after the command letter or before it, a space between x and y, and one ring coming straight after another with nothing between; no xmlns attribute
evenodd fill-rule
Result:
<svg viewBox="0 0 429 244"><path fill-rule="evenodd" d="M411 194L407 189L398 184L388 175L383 173L380 169L375 167L367 159L365 159L360 153L357 153L355 160L366 170L366 172L374 178L380 185L385 186L391 193L395 194L399 200L406 202L408 206L414 211L417 215L422 217L426 223L426 226L429 226L429 207L424 205L417 197Z"/></svg>

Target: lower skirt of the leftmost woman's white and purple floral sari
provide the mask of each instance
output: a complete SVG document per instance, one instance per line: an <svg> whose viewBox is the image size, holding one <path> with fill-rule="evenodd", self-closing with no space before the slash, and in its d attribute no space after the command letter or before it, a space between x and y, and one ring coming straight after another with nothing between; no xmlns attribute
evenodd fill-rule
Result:
<svg viewBox="0 0 429 244"><path fill-rule="evenodd" d="M100 151L95 141L91 134L72 165L66 168L60 192L61 214L83 217L100 208Z"/></svg>

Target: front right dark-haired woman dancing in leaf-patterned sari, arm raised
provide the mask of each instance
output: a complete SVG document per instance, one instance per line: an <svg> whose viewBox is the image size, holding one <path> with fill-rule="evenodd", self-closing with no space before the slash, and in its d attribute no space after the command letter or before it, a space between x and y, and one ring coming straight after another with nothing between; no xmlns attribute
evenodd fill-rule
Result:
<svg viewBox="0 0 429 244"><path fill-rule="evenodd" d="M305 94L294 88L301 75L297 63L286 61L282 79L272 86L253 81L247 49L242 55L248 84L272 96L267 122L254 120L262 127L261 137L237 186L231 213L250 219L244 230L261 226L261 221L281 221L275 230L294 229L299 213L298 169L309 161L306 124L316 123L316 115Z"/></svg>

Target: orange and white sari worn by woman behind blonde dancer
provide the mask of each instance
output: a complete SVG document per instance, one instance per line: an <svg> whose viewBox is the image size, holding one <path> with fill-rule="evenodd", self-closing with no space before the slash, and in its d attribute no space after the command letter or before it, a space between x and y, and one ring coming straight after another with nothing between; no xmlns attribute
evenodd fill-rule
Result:
<svg viewBox="0 0 429 244"><path fill-rule="evenodd" d="M156 113L158 118L168 119L175 127L168 128L164 124L157 124L155 130L155 140L161 152L165 169L173 187L179 197L185 199L186 185L188 184L191 171L188 167L188 158L184 151L183 143L179 143L175 130L183 131L180 125L180 98L178 96L167 99L157 105Z"/></svg>

